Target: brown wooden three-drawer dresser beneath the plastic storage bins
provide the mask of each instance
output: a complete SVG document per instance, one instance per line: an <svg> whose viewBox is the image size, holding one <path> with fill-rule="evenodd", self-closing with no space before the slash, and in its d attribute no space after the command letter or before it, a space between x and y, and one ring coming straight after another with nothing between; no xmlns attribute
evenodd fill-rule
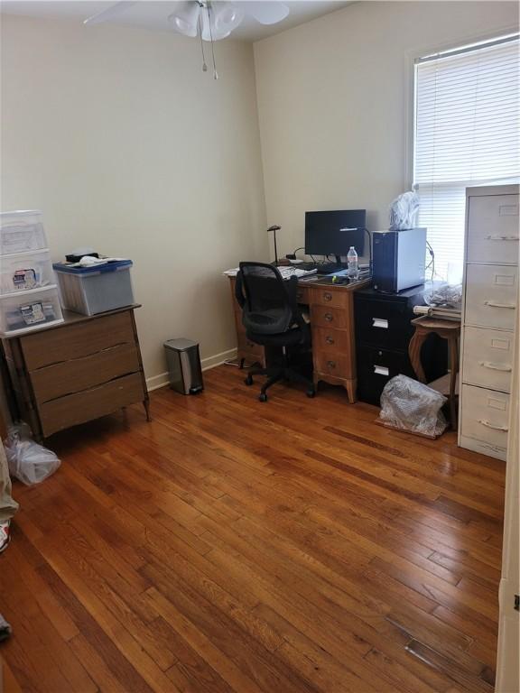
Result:
<svg viewBox="0 0 520 693"><path fill-rule="evenodd" d="M149 401L135 328L125 307L3 341L21 418L38 439Z"/></svg>

